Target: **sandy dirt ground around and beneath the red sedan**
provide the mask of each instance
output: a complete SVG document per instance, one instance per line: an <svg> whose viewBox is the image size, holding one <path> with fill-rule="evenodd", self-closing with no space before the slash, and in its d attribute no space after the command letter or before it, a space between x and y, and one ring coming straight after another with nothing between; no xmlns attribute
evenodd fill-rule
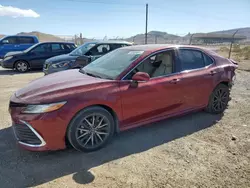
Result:
<svg viewBox="0 0 250 188"><path fill-rule="evenodd" d="M34 153L15 143L8 100L42 73L0 69L0 187L250 187L249 70L237 71L223 115L198 112L127 131L93 153Z"/></svg>

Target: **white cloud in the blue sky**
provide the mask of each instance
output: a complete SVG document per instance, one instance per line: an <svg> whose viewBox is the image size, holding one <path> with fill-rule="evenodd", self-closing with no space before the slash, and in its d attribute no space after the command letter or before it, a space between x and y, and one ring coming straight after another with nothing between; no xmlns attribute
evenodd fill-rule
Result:
<svg viewBox="0 0 250 188"><path fill-rule="evenodd" d="M20 9L12 6L0 5L0 16L10 16L13 18L18 17L31 17L38 18L40 15L31 9Z"/></svg>

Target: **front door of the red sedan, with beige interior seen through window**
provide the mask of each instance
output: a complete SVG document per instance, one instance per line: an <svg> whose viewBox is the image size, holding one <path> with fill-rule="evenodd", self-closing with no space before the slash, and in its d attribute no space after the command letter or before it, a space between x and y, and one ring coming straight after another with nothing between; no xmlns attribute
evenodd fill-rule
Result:
<svg viewBox="0 0 250 188"><path fill-rule="evenodd" d="M181 74L178 73L174 50L159 52L135 67L121 82L123 126L173 115L183 109ZM148 82L131 87L136 72L150 75Z"/></svg>

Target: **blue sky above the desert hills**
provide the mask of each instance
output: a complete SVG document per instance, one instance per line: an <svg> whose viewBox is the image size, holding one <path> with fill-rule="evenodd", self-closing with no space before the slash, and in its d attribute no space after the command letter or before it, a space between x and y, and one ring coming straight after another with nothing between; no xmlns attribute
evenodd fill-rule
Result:
<svg viewBox="0 0 250 188"><path fill-rule="evenodd" d="M148 31L186 35L250 26L250 0L0 0L0 34L40 31L88 38Z"/></svg>

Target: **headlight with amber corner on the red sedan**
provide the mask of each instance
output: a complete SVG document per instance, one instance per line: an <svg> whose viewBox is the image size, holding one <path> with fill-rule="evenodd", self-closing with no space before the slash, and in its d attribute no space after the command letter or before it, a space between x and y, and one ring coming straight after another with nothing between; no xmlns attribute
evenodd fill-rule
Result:
<svg viewBox="0 0 250 188"><path fill-rule="evenodd" d="M41 104L41 105L30 104L22 111L22 113L38 114L38 113L52 112L52 111L58 110L64 104L66 104L66 101L58 102L58 103L51 103L51 104Z"/></svg>

